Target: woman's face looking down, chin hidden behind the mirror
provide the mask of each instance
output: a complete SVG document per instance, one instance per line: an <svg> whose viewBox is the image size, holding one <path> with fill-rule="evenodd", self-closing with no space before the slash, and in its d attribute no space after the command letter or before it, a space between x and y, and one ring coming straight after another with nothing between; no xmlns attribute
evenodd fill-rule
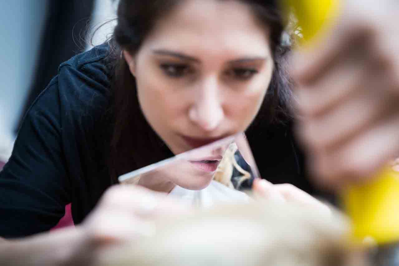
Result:
<svg viewBox="0 0 399 266"><path fill-rule="evenodd" d="M239 1L182 1L124 56L144 116L175 154L244 131L273 70L269 31Z"/></svg>

